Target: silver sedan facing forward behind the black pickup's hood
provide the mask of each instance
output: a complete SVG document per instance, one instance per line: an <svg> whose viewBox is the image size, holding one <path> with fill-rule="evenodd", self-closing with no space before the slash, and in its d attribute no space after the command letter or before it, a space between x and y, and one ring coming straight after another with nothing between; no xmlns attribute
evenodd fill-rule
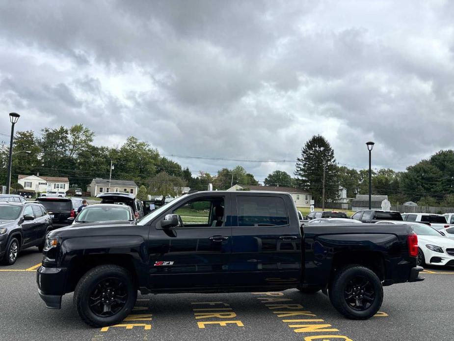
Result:
<svg viewBox="0 0 454 341"><path fill-rule="evenodd" d="M98 222L135 224L133 208L128 205L94 204L86 206L74 219L73 225L91 224Z"/></svg>

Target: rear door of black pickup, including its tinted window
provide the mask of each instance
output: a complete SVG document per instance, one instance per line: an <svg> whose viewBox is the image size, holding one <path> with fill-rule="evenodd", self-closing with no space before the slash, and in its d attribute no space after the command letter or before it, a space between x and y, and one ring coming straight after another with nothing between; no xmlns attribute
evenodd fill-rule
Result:
<svg viewBox="0 0 454 341"><path fill-rule="evenodd" d="M298 283L301 236L289 225L284 200L237 196L236 207L237 215L232 219L232 281L240 286ZM299 226L299 222L296 224Z"/></svg>

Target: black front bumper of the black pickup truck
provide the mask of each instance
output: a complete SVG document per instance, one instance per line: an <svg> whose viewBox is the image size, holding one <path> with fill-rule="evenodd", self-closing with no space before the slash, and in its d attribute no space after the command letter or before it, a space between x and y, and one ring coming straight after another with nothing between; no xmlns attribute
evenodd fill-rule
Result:
<svg viewBox="0 0 454 341"><path fill-rule="evenodd" d="M61 296L65 293L66 268L40 266L36 271L36 284L41 299L49 309L60 309Z"/></svg>

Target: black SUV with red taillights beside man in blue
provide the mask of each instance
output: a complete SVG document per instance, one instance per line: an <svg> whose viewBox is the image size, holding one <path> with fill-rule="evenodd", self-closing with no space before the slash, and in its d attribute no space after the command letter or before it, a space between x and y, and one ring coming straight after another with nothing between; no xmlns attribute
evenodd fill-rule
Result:
<svg viewBox="0 0 454 341"><path fill-rule="evenodd" d="M78 208L82 206L80 198L39 197L36 201L49 211L54 227L71 225Z"/></svg>

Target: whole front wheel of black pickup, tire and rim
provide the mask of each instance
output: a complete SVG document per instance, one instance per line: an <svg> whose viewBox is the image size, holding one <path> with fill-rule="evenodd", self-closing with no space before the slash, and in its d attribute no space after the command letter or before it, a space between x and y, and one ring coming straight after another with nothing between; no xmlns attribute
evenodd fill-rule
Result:
<svg viewBox="0 0 454 341"><path fill-rule="evenodd" d="M116 294L114 290L117 290ZM125 268L100 265L82 276L74 290L73 301L82 321L98 328L123 321L133 310L136 299L137 289L131 274Z"/></svg>

